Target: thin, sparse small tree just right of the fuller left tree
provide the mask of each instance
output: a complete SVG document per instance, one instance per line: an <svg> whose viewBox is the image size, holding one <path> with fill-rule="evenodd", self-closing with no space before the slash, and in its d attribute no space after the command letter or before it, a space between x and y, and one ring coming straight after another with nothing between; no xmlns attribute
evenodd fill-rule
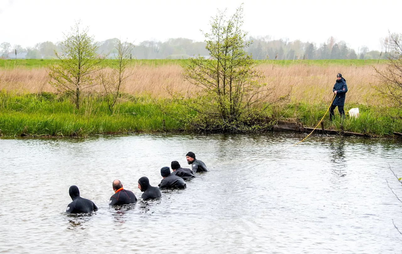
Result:
<svg viewBox="0 0 402 254"><path fill-rule="evenodd" d="M125 84L128 77L134 74L133 69L129 68L131 63L131 51L134 49L133 43L122 43L121 40L117 43L117 53L115 58L109 63L111 72L104 70L100 76L100 81L105 89L105 98L111 114L114 114L114 106L120 95L120 90Z"/></svg>

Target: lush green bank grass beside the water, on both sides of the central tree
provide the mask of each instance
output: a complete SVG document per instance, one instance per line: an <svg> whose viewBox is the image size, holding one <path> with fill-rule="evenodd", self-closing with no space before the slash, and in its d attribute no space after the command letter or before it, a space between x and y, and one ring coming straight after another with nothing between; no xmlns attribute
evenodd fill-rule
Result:
<svg viewBox="0 0 402 254"><path fill-rule="evenodd" d="M82 106L76 110L67 98L54 93L12 94L0 91L0 135L2 136L88 136L94 134L124 134L133 132L178 132L192 131L185 124L170 118L160 111L159 103L168 103L173 111L185 112L183 108L168 100L155 101L145 97L123 95L115 106L112 115L103 98L96 95L86 96ZM276 118L296 118L305 127L315 127L324 116L328 105L291 103L271 106ZM402 122L388 116L389 108L373 108L364 105L345 105L345 112L350 108L359 108L359 118L339 117L329 121L329 113L324 118L327 129L364 133L368 136L392 135L402 132ZM162 120L165 119L165 128Z"/></svg>

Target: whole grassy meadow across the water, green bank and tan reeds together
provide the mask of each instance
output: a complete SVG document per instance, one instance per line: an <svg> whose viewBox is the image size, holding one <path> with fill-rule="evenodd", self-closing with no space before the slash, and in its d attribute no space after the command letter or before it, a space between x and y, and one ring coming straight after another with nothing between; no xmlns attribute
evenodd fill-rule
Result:
<svg viewBox="0 0 402 254"><path fill-rule="evenodd" d="M133 60L135 74L122 89L117 110L112 115L103 101L101 87L87 91L80 110L74 108L48 83L45 66L57 60L0 60L0 129L4 136L87 136L101 133L191 131L183 123L166 116L159 103L170 103L167 88L191 96L195 87L185 81L182 71L186 60ZM113 60L107 60L113 61ZM345 112L359 108L360 117L336 118L326 128L372 136L402 132L400 122L388 116L390 105L382 100L373 85L373 65L378 60L287 60L258 61L256 68L265 75L271 88L267 103L290 93L287 101L270 106L278 118L299 118L304 126L314 127L332 100L336 74L347 80ZM335 114L338 114L337 109ZM162 128L162 119L166 126Z"/></svg>

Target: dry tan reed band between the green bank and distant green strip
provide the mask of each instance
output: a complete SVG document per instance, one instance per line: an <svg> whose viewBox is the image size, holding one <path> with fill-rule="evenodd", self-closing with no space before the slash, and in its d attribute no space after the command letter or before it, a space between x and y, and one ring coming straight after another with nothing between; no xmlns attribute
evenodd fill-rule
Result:
<svg viewBox="0 0 402 254"><path fill-rule="evenodd" d="M382 66L377 66L381 68ZM373 85L377 80L373 76L371 66L306 66L306 65L259 65L269 87L274 88L273 98L288 93L290 86L292 102L327 103L332 99L332 87L336 74L342 73L347 80L349 91L347 103L367 104L371 106L382 103L375 95ZM166 87L173 91L187 93L193 89L182 75L180 65L164 65L160 67L137 66L135 74L129 77L122 92L133 95L150 94L154 97L168 98ZM96 88L100 89L100 87ZM47 83L47 73L40 69L2 69L0 73L0 90L17 93L55 92ZM384 105L384 104L383 104Z"/></svg>

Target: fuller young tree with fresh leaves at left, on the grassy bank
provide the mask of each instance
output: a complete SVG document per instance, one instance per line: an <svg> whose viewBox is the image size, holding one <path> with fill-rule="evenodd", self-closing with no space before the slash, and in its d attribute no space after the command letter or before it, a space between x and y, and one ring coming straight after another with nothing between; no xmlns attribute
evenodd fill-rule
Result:
<svg viewBox="0 0 402 254"><path fill-rule="evenodd" d="M76 108L80 108L80 96L84 89L96 85L98 71L103 69L102 58L96 53L94 37L88 35L88 28L80 30L80 22L64 34L60 43L62 53L54 51L59 59L57 63L47 67L49 83L58 91L66 93L74 99Z"/></svg>

